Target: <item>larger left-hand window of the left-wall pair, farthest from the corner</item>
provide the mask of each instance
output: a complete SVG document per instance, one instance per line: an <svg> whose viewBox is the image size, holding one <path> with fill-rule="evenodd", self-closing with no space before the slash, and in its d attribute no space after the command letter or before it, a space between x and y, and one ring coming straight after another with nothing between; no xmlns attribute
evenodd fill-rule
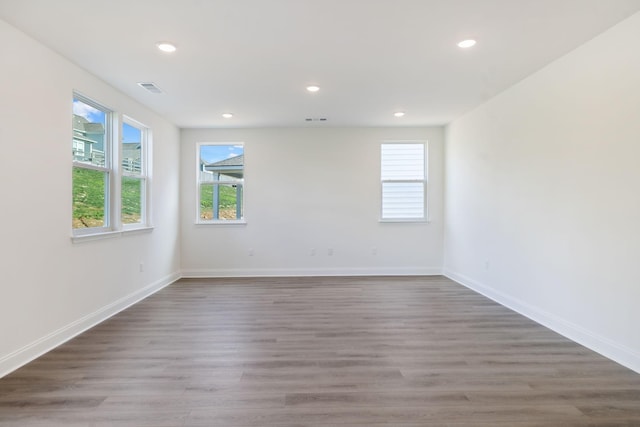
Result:
<svg viewBox="0 0 640 427"><path fill-rule="evenodd" d="M81 230L109 229L111 169L111 121L113 113L89 99L73 99L73 221Z"/></svg>

